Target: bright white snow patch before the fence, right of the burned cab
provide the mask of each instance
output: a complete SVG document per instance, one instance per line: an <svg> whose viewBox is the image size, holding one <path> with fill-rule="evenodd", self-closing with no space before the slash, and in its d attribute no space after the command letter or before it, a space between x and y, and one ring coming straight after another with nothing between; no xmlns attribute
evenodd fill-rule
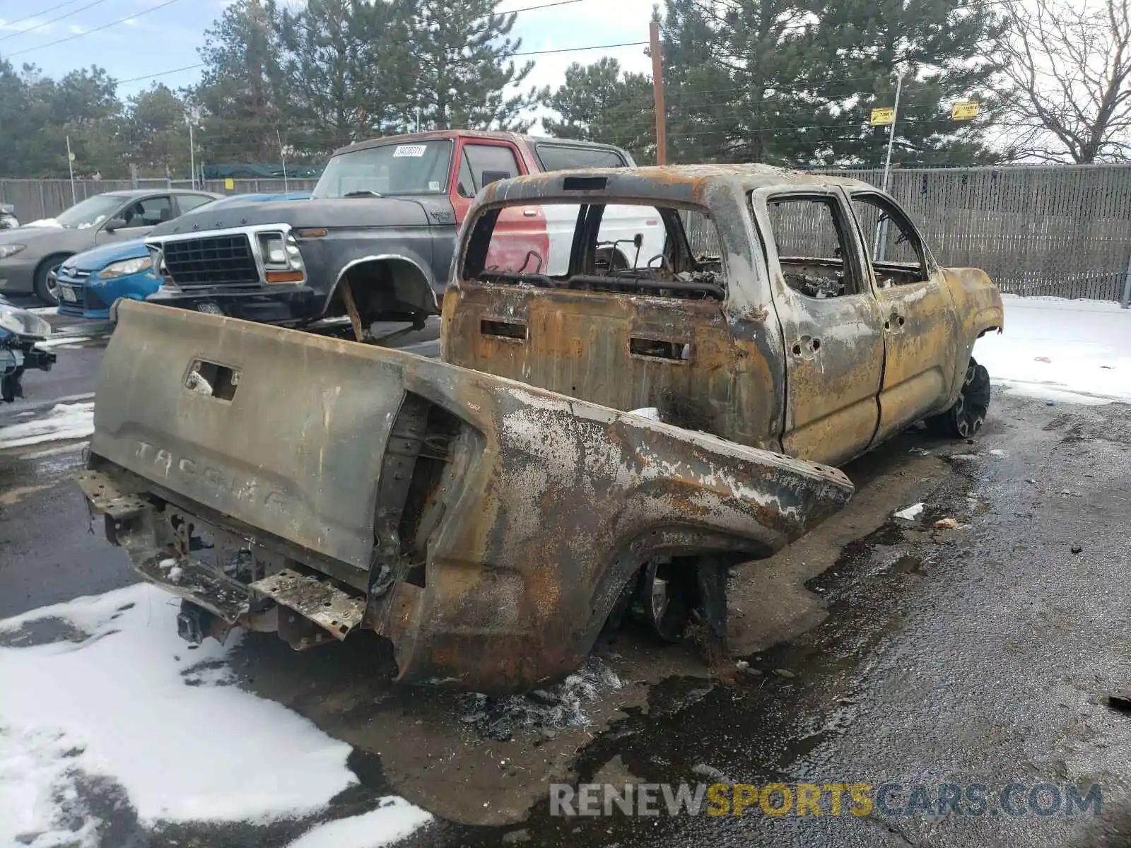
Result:
<svg viewBox="0 0 1131 848"><path fill-rule="evenodd" d="M1044 400L1131 403L1131 310L1110 301L1003 295L1005 332L978 339L994 382Z"/></svg>

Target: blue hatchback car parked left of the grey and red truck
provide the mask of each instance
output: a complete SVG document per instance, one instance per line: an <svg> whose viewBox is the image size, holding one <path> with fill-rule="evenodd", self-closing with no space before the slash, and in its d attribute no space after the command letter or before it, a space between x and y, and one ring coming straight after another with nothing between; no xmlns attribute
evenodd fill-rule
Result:
<svg viewBox="0 0 1131 848"><path fill-rule="evenodd" d="M267 200L305 200L309 193L233 194L214 200L207 208ZM106 244L71 257L55 272L59 313L106 320L114 302L122 297L144 301L161 287L145 239Z"/></svg>

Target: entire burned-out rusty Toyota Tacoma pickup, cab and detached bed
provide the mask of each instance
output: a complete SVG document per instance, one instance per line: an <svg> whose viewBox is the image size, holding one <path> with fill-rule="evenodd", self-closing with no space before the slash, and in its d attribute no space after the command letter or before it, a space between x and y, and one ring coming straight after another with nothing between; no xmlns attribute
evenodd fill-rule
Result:
<svg viewBox="0 0 1131 848"><path fill-rule="evenodd" d="M487 260L503 216L559 204L577 210L563 269ZM603 263L611 205L662 222L663 249ZM851 496L823 464L917 419L977 430L970 354L1001 326L986 276L940 268L863 183L520 178L468 213L441 361L123 304L81 486L183 599L190 640L364 628L398 680L513 691L575 668L627 611L723 638L729 569Z"/></svg>

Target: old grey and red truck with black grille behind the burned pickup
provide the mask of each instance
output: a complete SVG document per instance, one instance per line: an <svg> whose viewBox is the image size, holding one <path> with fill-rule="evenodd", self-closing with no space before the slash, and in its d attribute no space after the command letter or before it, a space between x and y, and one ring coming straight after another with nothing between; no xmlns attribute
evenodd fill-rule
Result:
<svg viewBox="0 0 1131 848"><path fill-rule="evenodd" d="M627 167L611 145L450 130L337 150L307 201L202 207L147 243L164 285L150 300L285 326L351 314L420 326L438 314L456 233L472 199L498 180L543 171ZM489 265L564 274L578 207L506 209ZM664 251L655 210L610 206L598 261L631 269Z"/></svg>

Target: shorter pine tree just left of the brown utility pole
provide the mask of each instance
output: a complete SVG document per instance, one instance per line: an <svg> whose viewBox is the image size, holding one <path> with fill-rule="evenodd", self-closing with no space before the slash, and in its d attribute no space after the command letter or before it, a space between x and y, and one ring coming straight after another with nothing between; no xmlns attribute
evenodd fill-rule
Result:
<svg viewBox="0 0 1131 848"><path fill-rule="evenodd" d="M561 116L543 119L551 136L605 141L623 147L638 163L656 161L651 79L623 72L615 59L573 62L564 84L553 93L545 89L542 102Z"/></svg>

